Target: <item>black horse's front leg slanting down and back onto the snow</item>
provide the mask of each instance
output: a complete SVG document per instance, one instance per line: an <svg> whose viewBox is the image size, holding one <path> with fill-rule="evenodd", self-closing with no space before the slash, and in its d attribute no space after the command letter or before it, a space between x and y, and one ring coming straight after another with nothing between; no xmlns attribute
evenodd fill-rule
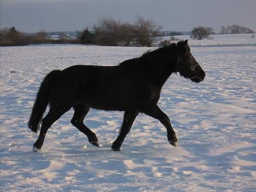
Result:
<svg viewBox="0 0 256 192"><path fill-rule="evenodd" d="M133 124L133 121L137 117L138 112L125 112L124 114L124 120L123 125L121 127L120 133L118 138L114 141L112 145L112 149L114 151L120 151L120 147L129 131L131 130L131 126Z"/></svg>

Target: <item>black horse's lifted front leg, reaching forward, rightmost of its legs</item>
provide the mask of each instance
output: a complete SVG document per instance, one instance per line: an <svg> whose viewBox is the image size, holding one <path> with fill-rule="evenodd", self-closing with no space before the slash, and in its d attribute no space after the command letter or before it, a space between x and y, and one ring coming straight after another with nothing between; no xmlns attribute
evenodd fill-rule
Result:
<svg viewBox="0 0 256 192"><path fill-rule="evenodd" d="M167 117L167 115L164 112L162 112L162 110L156 104L154 106L149 106L148 108L143 109L142 113L145 113L150 117L158 119L161 122L161 124L166 127L167 138L170 144L172 144L172 146L174 147L178 146L178 143L177 143L178 139L176 137L176 133L172 129L170 119Z"/></svg>

